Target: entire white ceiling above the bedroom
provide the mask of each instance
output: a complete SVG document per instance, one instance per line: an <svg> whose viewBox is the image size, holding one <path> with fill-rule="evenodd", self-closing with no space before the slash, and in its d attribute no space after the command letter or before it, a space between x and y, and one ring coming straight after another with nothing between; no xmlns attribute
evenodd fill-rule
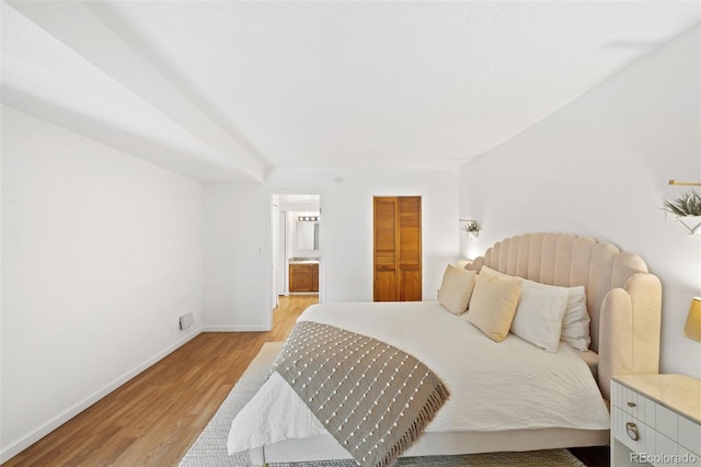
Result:
<svg viewBox="0 0 701 467"><path fill-rule="evenodd" d="M203 181L453 168L701 20L698 1L11 1L2 101Z"/></svg>

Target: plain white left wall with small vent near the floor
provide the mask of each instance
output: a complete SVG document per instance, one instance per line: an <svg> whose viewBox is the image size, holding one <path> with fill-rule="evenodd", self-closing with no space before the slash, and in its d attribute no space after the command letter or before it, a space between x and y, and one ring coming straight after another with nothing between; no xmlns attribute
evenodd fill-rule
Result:
<svg viewBox="0 0 701 467"><path fill-rule="evenodd" d="M198 332L202 185L5 106L2 166L7 459Z"/></svg>

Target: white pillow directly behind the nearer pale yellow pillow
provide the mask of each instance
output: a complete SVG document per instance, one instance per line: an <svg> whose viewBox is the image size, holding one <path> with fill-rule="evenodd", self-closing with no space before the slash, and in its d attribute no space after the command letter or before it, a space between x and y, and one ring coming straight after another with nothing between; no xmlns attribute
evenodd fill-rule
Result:
<svg viewBox="0 0 701 467"><path fill-rule="evenodd" d="M568 296L565 287L524 281L512 332L548 352L558 352Z"/></svg>

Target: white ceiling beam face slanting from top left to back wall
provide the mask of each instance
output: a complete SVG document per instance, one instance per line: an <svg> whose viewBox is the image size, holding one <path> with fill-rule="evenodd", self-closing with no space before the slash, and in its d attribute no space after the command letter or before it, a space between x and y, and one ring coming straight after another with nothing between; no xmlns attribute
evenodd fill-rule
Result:
<svg viewBox="0 0 701 467"><path fill-rule="evenodd" d="M197 102L187 99L165 76L80 2L10 4L35 24L106 72L122 86L179 124L230 164L262 182L265 167L246 144L215 123Z"/></svg>

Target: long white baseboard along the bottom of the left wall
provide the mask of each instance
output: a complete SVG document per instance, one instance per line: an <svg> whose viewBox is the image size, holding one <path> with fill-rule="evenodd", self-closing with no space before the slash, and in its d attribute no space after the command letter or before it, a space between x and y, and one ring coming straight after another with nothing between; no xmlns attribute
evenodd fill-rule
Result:
<svg viewBox="0 0 701 467"><path fill-rule="evenodd" d="M168 355L170 355L171 353L173 353L174 351L176 351L177 349L180 349L181 346L183 346L184 344L186 344L187 342L196 338L199 333L202 333L202 328L195 328L192 332L189 332L187 335L185 335L177 342L173 343L172 345L169 345L166 349L157 353L156 355L153 355L152 357L150 357L149 360L147 360L136 368L131 369L130 372L127 372L124 375L119 376L117 379L110 383L107 386L100 389L92 396L71 406L59 415L47 421L36 430L33 430L30 433L26 433L19 440L12 442L10 445L2 447L2 449L0 449L0 464L16 456L22 451L30 447L32 444L36 443L37 441L39 441L41 438L43 438L44 436L46 436L47 434L49 434L50 432L53 432L54 430L56 430L57 428L59 428L60 425L62 425L73 417L76 417L77 414L79 414L80 412L82 412L83 410L88 409L90 406L92 406L103 397L107 396L113 390L117 389L119 386L127 383L129 379L134 378L145 369L148 369L149 367L153 366L153 364L163 360L164 357L166 357Z"/></svg>

